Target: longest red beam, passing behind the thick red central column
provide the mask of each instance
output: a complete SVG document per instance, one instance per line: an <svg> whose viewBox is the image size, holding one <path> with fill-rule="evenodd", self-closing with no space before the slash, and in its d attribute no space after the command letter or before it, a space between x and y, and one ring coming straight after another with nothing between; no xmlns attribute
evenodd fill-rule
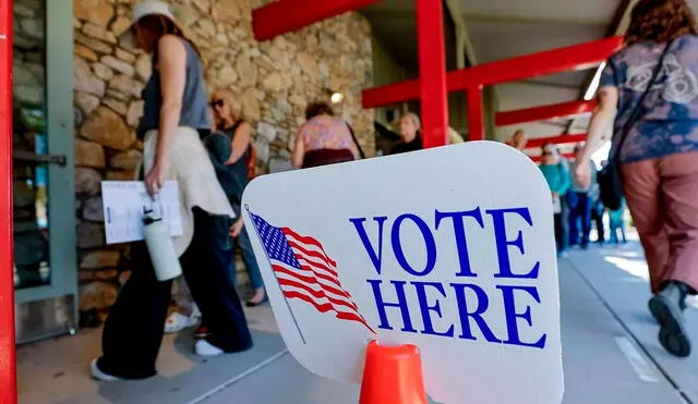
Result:
<svg viewBox="0 0 698 404"><path fill-rule="evenodd" d="M587 70L599 65L623 47L623 37L612 37L571 47L547 50L474 68L452 71L446 75L448 91L462 91L478 85L495 85L542 75ZM420 97L419 79L406 81L363 90L363 108L376 108L410 101Z"/></svg>

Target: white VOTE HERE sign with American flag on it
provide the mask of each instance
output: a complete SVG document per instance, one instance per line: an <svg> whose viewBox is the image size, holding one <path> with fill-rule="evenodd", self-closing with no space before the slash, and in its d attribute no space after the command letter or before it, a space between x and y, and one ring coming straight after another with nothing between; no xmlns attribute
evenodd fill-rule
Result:
<svg viewBox="0 0 698 404"><path fill-rule="evenodd" d="M375 339L420 347L436 401L562 401L553 207L525 155L476 142L265 175L243 205L309 370L360 382Z"/></svg>

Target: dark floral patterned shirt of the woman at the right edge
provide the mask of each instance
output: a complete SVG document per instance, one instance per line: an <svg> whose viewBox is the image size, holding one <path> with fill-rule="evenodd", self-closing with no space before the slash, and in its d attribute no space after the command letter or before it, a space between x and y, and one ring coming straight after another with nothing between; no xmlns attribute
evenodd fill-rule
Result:
<svg viewBox="0 0 698 404"><path fill-rule="evenodd" d="M618 88L613 149L634 107L647 89L665 44L640 42L609 59L601 87ZM698 36L686 35L671 46L619 154L623 163L698 150ZM612 151L612 154L615 151Z"/></svg>

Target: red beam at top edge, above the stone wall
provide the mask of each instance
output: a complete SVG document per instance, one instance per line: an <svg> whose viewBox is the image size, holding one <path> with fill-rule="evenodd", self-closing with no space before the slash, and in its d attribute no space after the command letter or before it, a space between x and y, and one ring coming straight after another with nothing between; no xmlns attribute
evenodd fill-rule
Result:
<svg viewBox="0 0 698 404"><path fill-rule="evenodd" d="M252 11L252 32L258 41L313 23L359 10L380 0L277 0Z"/></svg>

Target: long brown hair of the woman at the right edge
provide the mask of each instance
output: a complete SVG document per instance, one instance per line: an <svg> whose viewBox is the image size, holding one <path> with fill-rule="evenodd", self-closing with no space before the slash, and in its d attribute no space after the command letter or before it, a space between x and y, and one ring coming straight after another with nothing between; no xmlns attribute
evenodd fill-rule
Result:
<svg viewBox="0 0 698 404"><path fill-rule="evenodd" d="M665 44L684 35L696 35L696 17L686 0L640 0L633 9L625 42Z"/></svg>

